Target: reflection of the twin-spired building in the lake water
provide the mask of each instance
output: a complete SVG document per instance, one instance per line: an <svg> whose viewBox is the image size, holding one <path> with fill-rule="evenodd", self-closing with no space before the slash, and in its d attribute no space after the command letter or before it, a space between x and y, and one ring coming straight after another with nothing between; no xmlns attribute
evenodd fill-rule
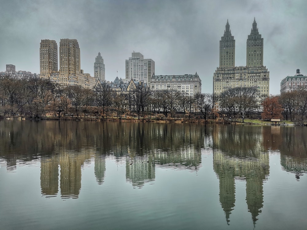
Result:
<svg viewBox="0 0 307 230"><path fill-rule="evenodd" d="M220 180L220 203L230 222L235 208L235 180L246 181L246 203L254 225L263 207L263 182L269 175L269 155L261 130L251 126L216 126L213 131L213 169Z"/></svg>

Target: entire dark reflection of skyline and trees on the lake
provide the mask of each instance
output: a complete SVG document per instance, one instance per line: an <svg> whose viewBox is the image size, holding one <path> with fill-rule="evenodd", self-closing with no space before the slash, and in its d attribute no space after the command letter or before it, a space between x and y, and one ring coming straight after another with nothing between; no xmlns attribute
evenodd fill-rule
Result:
<svg viewBox="0 0 307 230"><path fill-rule="evenodd" d="M94 167L95 183L105 186L111 160L124 166L127 183L144 188L155 183L158 168L199 171L201 151L206 150L212 153L226 223L231 223L240 180L246 183L246 212L255 225L265 205L263 183L270 174L269 152L280 154L282 168L293 173L293 179L300 180L307 171L305 127L0 122L1 167L16 172L21 165L40 161L44 197L78 198L86 165Z"/></svg>

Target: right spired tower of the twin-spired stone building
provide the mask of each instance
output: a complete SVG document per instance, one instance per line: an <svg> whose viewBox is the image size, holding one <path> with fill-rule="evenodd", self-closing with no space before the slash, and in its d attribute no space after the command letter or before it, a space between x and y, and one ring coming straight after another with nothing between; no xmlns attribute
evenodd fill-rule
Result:
<svg viewBox="0 0 307 230"><path fill-rule="evenodd" d="M258 32L255 18L251 34L247 36L246 41L246 66L263 66L263 38L261 38L261 34Z"/></svg>

